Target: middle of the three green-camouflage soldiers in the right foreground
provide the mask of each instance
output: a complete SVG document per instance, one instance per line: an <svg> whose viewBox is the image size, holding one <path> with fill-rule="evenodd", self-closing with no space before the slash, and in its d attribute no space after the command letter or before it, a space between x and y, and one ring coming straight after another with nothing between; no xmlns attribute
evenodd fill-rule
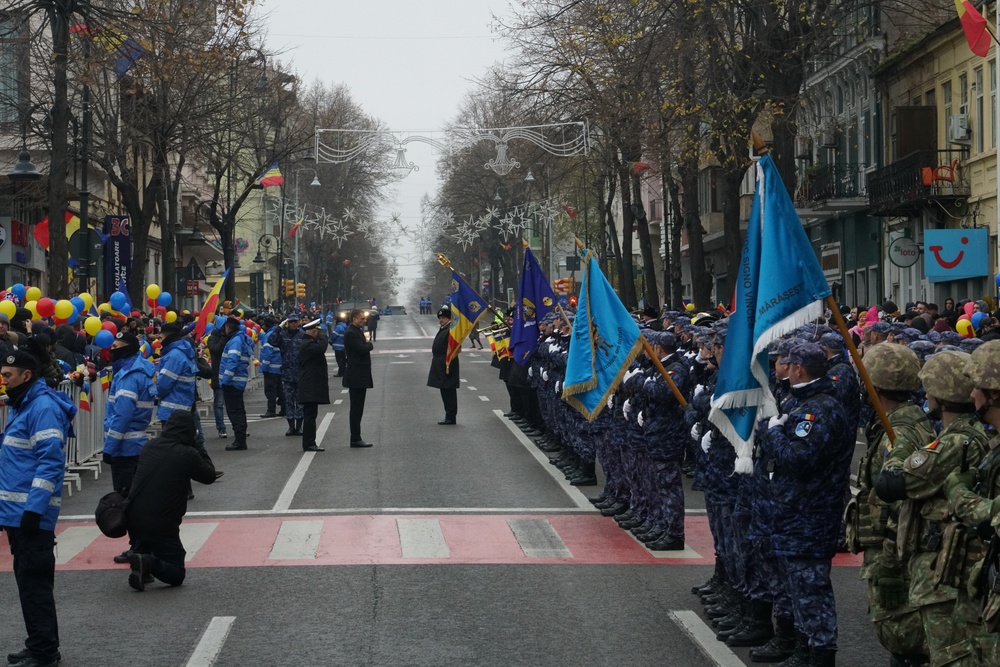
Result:
<svg viewBox="0 0 1000 667"><path fill-rule="evenodd" d="M973 414L972 382L963 373L969 355L938 352L920 370L931 414L944 429L904 461L890 458L875 481L885 502L902 501L895 554L908 561L909 604L918 609L931 667L976 664L967 626L978 609L966 592L972 564L982 558L974 531L951 520L942 488L955 468L975 467L986 455L986 435Z"/></svg>

